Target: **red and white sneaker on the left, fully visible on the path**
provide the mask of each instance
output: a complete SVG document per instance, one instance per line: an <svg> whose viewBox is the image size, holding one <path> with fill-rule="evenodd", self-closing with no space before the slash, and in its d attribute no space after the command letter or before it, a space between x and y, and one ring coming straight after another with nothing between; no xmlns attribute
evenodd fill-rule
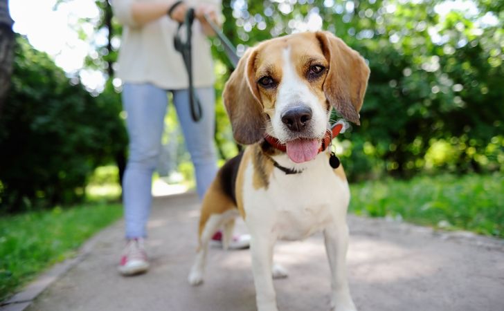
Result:
<svg viewBox="0 0 504 311"><path fill-rule="evenodd" d="M149 269L143 238L134 238L127 242L120 258L118 270L125 276L146 272Z"/></svg>

